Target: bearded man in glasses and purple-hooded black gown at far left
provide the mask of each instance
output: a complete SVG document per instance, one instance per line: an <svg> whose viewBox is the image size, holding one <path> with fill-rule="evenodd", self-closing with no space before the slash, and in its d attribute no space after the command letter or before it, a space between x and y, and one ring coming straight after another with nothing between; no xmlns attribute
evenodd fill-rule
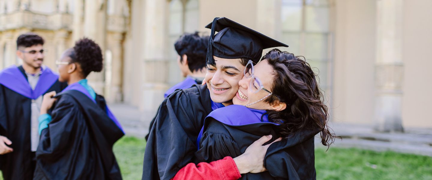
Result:
<svg viewBox="0 0 432 180"><path fill-rule="evenodd" d="M35 170L42 96L61 92L67 84L42 65L46 50L41 36L20 35L16 45L22 65L0 72L0 169L5 180L28 180Z"/></svg>

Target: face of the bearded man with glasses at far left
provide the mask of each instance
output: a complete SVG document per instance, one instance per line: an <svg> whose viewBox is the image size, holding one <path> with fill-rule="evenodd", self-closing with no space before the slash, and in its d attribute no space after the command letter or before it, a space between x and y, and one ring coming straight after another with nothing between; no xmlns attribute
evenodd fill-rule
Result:
<svg viewBox="0 0 432 180"><path fill-rule="evenodd" d="M40 68L44 62L44 51L42 44L30 47L19 47L17 55L22 62L34 69Z"/></svg>

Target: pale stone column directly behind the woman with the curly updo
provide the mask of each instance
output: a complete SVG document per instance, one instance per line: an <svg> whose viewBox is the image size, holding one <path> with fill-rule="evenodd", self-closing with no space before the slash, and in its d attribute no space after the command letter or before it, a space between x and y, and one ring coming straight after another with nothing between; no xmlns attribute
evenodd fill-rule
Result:
<svg viewBox="0 0 432 180"><path fill-rule="evenodd" d="M106 46L106 5L107 0L85 0L83 35L94 40L105 52ZM105 72L90 73L87 77L95 92L104 95Z"/></svg>

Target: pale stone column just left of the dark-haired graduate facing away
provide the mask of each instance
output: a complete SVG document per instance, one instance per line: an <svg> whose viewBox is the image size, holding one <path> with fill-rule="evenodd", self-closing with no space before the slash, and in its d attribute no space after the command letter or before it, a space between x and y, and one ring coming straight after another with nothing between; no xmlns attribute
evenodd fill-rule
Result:
<svg viewBox="0 0 432 180"><path fill-rule="evenodd" d="M167 41L167 1L146 0L143 38L143 59L141 61L144 73L142 83L142 100L140 110L146 118L152 118L163 100L164 90L168 88L168 49Z"/></svg>

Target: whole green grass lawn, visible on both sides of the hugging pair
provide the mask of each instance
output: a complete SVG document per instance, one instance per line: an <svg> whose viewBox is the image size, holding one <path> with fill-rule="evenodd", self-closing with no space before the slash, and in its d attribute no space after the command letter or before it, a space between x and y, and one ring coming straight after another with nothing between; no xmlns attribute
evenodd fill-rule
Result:
<svg viewBox="0 0 432 180"><path fill-rule="evenodd" d="M124 180L140 180L145 141L124 137L114 152ZM318 180L432 180L432 157L356 148L315 149ZM0 175L0 180L3 178Z"/></svg>

